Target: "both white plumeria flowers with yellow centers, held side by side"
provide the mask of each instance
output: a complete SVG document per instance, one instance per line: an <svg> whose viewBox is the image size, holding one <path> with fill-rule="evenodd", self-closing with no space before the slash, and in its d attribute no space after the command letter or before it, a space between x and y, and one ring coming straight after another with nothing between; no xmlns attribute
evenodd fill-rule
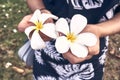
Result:
<svg viewBox="0 0 120 80"><path fill-rule="evenodd" d="M56 19L56 24L45 23L48 18ZM58 19L55 15L36 10L30 21L35 25L26 28L25 33L30 39L33 49L45 47L45 42L39 32L56 39L55 47L59 53L66 53L70 50L77 57L86 57L88 55L87 46L93 46L97 42L93 33L80 33L87 25L87 19L80 14L74 15L69 24L65 18ZM31 38L30 33L32 33ZM58 33L62 35L58 35Z"/></svg>

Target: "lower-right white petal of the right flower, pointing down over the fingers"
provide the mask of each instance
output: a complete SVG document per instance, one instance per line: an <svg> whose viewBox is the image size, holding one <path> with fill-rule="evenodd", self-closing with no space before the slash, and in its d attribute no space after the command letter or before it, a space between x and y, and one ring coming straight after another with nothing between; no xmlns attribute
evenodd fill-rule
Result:
<svg viewBox="0 0 120 80"><path fill-rule="evenodd" d="M70 50L77 57L84 58L88 55L88 49L85 46L79 44L71 44Z"/></svg>

